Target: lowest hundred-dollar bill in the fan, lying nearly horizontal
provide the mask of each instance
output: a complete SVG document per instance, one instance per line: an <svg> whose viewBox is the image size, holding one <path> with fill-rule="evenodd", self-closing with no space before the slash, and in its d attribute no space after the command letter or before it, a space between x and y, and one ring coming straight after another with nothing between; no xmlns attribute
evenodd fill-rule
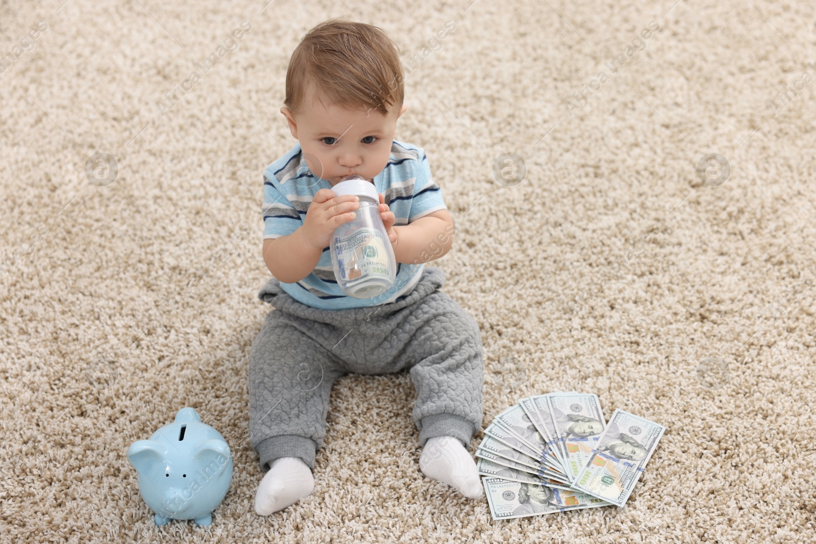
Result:
<svg viewBox="0 0 816 544"><path fill-rule="evenodd" d="M554 514L579 508L608 506L608 502L588 493L564 491L536 484L482 478L490 515L494 520L524 518L529 515Z"/></svg>

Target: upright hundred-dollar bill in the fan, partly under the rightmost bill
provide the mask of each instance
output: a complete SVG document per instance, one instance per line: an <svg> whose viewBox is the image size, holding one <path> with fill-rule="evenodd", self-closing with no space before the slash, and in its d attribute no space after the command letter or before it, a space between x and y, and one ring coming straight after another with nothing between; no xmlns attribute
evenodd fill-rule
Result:
<svg viewBox="0 0 816 544"><path fill-rule="evenodd" d="M606 427L601 403L594 393L557 393L547 396L547 405L565 455L566 475L574 481Z"/></svg>

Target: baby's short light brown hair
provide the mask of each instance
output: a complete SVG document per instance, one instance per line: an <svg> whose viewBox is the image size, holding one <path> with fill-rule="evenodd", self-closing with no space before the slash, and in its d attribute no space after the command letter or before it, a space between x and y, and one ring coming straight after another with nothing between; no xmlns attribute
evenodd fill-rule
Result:
<svg viewBox="0 0 816 544"><path fill-rule="evenodd" d="M295 115L308 87L324 104L376 109L402 107L399 47L378 27L339 17L323 21L301 38L286 70L284 104Z"/></svg>

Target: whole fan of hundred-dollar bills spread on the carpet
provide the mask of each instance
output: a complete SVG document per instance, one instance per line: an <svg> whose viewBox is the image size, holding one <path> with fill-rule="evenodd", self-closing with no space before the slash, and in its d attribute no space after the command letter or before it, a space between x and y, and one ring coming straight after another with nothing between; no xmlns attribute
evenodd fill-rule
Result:
<svg viewBox="0 0 816 544"><path fill-rule="evenodd" d="M479 444L494 520L623 506L666 427L617 409L609 424L594 393L521 399Z"/></svg>

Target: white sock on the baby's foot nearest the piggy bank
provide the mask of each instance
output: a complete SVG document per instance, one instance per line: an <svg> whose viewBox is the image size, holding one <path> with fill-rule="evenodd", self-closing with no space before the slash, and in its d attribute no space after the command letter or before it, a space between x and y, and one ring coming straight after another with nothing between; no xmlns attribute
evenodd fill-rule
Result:
<svg viewBox="0 0 816 544"><path fill-rule="evenodd" d="M255 511L258 515L283 510L314 491L312 471L303 459L281 457L275 459L269 467L255 493Z"/></svg>

